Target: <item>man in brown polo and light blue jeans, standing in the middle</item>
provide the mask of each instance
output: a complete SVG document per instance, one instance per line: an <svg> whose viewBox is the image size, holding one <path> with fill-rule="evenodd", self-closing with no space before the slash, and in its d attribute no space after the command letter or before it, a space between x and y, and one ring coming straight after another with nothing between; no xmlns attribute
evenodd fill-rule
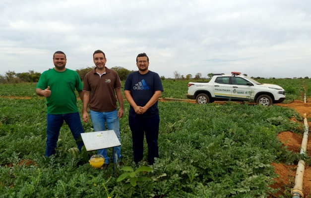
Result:
<svg viewBox="0 0 311 198"><path fill-rule="evenodd" d="M87 108L89 108L94 131L105 131L105 124L107 124L108 130L114 130L121 143L119 118L124 114L124 106L119 75L116 71L105 66L107 59L102 50L96 50L93 53L93 61L96 68L84 77L83 121L89 121L87 112ZM119 110L117 110L117 99L120 106ZM100 149L97 152L105 157L104 168L107 168L110 159L107 149ZM119 159L121 157L121 146L114 147L114 152L117 152Z"/></svg>

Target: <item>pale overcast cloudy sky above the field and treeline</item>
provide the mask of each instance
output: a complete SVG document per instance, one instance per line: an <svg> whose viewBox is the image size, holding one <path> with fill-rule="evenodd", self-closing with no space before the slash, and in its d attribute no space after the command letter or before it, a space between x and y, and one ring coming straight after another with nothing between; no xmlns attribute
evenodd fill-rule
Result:
<svg viewBox="0 0 311 198"><path fill-rule="evenodd" d="M53 68L136 70L149 56L166 78L240 71L249 77L311 78L311 0L0 0L0 74Z"/></svg>

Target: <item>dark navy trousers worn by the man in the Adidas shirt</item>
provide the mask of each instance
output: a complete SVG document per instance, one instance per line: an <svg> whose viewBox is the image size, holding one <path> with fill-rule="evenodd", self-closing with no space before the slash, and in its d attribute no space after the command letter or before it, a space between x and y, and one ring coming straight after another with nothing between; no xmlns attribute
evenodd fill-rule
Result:
<svg viewBox="0 0 311 198"><path fill-rule="evenodd" d="M154 164L154 158L159 157L159 115L128 116L128 125L132 132L133 157L137 164L143 159L144 135L148 145L148 163Z"/></svg>

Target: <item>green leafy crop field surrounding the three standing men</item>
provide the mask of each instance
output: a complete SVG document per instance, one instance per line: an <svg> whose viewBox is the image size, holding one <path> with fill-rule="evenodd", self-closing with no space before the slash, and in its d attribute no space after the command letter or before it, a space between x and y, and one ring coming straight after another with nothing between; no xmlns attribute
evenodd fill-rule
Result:
<svg viewBox="0 0 311 198"><path fill-rule="evenodd" d="M283 87L287 92L285 103L303 100L304 93L311 98L308 79L258 81ZM162 98L186 99L187 83L163 81ZM45 157L46 100L35 95L35 87L36 84L0 85L1 198L268 197L276 191L269 187L277 177L271 162L295 160L276 136L283 131L303 133L302 125L290 120L295 117L301 121L302 117L287 107L159 102L160 158L151 166L152 171L136 172L134 186L128 180L117 182L126 171L112 164L107 170L95 169L82 156L70 155L67 149L76 145L66 125L61 130L57 155ZM78 106L82 108L80 100ZM131 161L127 102L124 108L123 162L137 170ZM83 123L83 127L85 132L92 132L91 123ZM110 155L111 152L110 149ZM140 165L146 166L144 162Z"/></svg>

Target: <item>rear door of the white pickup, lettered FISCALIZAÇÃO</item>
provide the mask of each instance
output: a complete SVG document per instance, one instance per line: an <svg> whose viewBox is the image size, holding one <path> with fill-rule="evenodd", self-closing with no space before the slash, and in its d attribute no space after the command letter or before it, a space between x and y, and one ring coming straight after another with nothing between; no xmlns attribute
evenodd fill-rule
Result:
<svg viewBox="0 0 311 198"><path fill-rule="evenodd" d="M229 76L220 76L215 79L213 84L215 98L231 98L231 89Z"/></svg>

